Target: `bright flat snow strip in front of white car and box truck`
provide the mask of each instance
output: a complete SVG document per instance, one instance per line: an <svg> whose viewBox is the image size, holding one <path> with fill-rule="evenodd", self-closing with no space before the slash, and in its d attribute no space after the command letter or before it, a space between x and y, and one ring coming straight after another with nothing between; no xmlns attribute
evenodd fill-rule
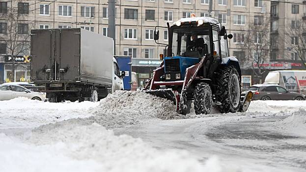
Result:
<svg viewBox="0 0 306 172"><path fill-rule="evenodd" d="M70 118L91 116L92 102L50 103L19 97L0 101L0 129L32 128Z"/></svg>

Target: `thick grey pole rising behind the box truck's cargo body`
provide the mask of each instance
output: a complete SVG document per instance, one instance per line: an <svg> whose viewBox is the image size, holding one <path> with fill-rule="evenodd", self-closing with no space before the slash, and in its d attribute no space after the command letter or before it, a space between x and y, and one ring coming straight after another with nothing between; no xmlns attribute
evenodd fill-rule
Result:
<svg viewBox="0 0 306 172"><path fill-rule="evenodd" d="M115 0L109 0L108 17L109 17L108 36L113 39L113 44L114 44L113 54L116 55Z"/></svg>

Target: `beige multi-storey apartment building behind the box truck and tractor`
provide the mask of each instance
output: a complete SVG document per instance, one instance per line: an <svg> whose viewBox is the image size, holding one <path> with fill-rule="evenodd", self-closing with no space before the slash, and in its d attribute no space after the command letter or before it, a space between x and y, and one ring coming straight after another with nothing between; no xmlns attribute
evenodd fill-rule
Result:
<svg viewBox="0 0 306 172"><path fill-rule="evenodd" d="M115 6L116 55L131 56L134 71L143 74L139 75L143 81L159 65L159 54L165 49L153 40L155 26L166 26L167 22L171 26L192 13L209 15L209 0L116 0ZM213 0L212 17L234 35L229 42L231 55L246 56L242 45L248 26L270 18L269 9L270 0ZM30 29L75 27L107 35L108 0L1 0L0 15L10 10L20 14L16 25L20 36L28 34ZM0 54L10 54L3 41L10 25L9 18L0 17ZM159 41L167 43L167 40L167 29L160 30ZM28 51L22 53L29 54ZM7 71L9 69L7 67ZM5 80L8 74L3 71Z"/></svg>

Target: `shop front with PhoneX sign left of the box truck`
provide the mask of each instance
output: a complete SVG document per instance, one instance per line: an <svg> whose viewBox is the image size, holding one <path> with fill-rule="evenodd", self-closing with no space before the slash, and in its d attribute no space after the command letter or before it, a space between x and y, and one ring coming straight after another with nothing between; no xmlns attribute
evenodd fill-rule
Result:
<svg viewBox="0 0 306 172"><path fill-rule="evenodd" d="M4 56L3 82L29 82L30 61L29 56Z"/></svg>

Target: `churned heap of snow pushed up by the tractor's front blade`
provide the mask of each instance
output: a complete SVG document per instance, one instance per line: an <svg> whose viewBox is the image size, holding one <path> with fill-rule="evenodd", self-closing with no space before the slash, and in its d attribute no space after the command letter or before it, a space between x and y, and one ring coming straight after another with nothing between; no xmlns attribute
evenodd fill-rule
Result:
<svg viewBox="0 0 306 172"><path fill-rule="evenodd" d="M95 122L106 127L122 127L152 118L178 116L172 101L143 91L116 91L91 109Z"/></svg>

